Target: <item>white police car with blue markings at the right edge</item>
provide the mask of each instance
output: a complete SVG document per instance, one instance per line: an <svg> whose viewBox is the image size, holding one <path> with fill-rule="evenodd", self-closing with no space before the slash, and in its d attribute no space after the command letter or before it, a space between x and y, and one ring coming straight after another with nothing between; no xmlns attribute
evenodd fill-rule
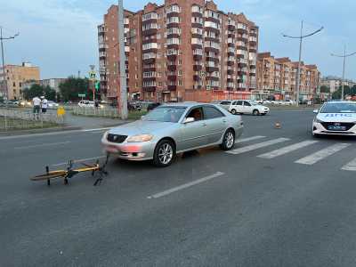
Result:
<svg viewBox="0 0 356 267"><path fill-rule="evenodd" d="M314 110L312 135L356 135L356 102L330 101Z"/></svg>

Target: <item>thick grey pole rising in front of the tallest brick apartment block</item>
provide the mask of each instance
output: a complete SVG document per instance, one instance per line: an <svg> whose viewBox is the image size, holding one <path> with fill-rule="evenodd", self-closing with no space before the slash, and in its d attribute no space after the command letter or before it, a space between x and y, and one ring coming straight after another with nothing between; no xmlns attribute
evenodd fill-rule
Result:
<svg viewBox="0 0 356 267"><path fill-rule="evenodd" d="M124 36L124 1L118 0L118 50L120 56L120 103L119 109L122 119L127 119L127 87L126 87L126 71L125 71L125 36Z"/></svg>

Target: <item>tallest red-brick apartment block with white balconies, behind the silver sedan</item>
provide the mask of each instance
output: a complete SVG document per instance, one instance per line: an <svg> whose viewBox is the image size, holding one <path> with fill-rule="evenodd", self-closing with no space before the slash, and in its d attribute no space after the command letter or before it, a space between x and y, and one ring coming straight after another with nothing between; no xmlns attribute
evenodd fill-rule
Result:
<svg viewBox="0 0 356 267"><path fill-rule="evenodd" d="M117 5L98 26L101 88L119 95ZM129 99L211 101L249 95L256 87L258 27L213 1L166 0L125 11Z"/></svg>

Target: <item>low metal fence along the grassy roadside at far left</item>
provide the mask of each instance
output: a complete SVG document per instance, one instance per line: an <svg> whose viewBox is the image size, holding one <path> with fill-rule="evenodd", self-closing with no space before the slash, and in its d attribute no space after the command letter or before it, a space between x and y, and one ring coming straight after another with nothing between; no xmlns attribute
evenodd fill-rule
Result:
<svg viewBox="0 0 356 267"><path fill-rule="evenodd" d="M32 109L0 108L0 131L63 125L64 120L57 116L57 110L34 114Z"/></svg>

